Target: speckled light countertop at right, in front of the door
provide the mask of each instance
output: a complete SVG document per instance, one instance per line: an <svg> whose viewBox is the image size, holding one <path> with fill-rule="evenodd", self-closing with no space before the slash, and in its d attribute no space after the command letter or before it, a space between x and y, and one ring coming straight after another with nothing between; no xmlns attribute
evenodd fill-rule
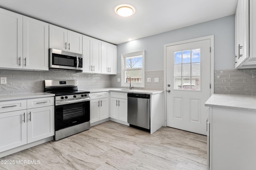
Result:
<svg viewBox="0 0 256 170"><path fill-rule="evenodd" d="M256 111L256 96L213 94L206 101L205 106L243 111Z"/></svg>

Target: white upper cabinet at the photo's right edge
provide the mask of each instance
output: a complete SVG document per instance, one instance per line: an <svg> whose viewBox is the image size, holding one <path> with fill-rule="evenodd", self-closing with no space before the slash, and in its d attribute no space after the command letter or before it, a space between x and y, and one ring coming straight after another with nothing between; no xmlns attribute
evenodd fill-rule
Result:
<svg viewBox="0 0 256 170"><path fill-rule="evenodd" d="M235 68L256 68L256 2L253 0L238 0L235 16Z"/></svg>

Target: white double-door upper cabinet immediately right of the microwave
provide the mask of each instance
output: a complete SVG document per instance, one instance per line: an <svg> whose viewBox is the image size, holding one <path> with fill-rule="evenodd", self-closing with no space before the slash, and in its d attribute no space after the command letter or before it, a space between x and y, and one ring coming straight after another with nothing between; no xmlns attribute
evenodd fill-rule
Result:
<svg viewBox="0 0 256 170"><path fill-rule="evenodd" d="M83 35L83 72L101 73L101 41Z"/></svg>

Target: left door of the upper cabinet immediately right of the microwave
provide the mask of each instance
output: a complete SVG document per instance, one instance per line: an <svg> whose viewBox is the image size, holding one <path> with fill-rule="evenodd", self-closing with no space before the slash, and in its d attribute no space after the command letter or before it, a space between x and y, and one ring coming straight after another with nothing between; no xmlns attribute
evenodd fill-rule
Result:
<svg viewBox="0 0 256 170"><path fill-rule="evenodd" d="M92 38L83 35L83 72L92 72Z"/></svg>

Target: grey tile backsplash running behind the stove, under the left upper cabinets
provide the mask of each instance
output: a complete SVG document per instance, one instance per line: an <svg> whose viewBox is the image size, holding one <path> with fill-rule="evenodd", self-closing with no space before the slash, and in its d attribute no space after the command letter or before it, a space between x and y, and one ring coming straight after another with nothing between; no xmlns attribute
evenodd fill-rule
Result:
<svg viewBox="0 0 256 170"><path fill-rule="evenodd" d="M0 77L6 77L6 84L0 84L0 94L22 94L43 92L43 80L78 80L78 89L109 88L110 75L85 74L72 71L25 71L0 70Z"/></svg>

